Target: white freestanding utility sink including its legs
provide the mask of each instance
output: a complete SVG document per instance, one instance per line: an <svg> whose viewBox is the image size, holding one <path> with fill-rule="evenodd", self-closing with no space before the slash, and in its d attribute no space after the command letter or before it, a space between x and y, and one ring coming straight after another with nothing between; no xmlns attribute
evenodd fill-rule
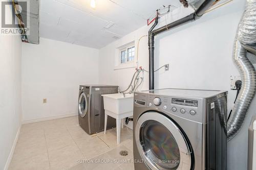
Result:
<svg viewBox="0 0 256 170"><path fill-rule="evenodd" d="M133 94L115 93L102 94L105 109L104 134L106 134L106 124L108 116L116 119L117 143L120 143L120 131L123 128L123 119L133 116ZM122 126L121 126L122 123Z"/></svg>

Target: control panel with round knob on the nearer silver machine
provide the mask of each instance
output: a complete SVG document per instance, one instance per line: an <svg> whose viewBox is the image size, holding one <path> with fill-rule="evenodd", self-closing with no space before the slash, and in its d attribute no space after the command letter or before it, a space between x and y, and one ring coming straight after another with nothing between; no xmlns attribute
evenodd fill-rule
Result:
<svg viewBox="0 0 256 170"><path fill-rule="evenodd" d="M200 123L206 123L207 106L203 99L181 98L151 93L135 93L136 107L169 112Z"/></svg>

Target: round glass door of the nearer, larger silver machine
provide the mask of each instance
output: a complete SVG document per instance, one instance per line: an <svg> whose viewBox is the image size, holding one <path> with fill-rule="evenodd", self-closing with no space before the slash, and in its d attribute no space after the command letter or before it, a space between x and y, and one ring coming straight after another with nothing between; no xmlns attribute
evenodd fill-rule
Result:
<svg viewBox="0 0 256 170"><path fill-rule="evenodd" d="M150 169L194 169L194 154L186 135L174 120L161 113L146 112L139 117L135 141Z"/></svg>

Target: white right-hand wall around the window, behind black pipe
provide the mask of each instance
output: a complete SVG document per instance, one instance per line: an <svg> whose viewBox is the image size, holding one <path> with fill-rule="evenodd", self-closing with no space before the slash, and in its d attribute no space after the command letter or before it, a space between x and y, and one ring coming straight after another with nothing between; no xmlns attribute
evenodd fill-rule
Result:
<svg viewBox="0 0 256 170"><path fill-rule="evenodd" d="M230 76L239 75L232 62L234 35L245 1L233 0L228 5L206 13L201 19L169 30L155 37L155 68L169 63L168 72L156 73L155 88L192 88L228 90L228 112L236 91L230 90ZM100 83L119 85L124 89L134 69L114 70L115 48L147 35L150 27L135 32L101 48ZM147 38L140 41L139 66L148 70ZM148 89L145 74L142 89ZM228 169L244 170L247 165L247 130L251 116L255 115L254 100L242 131L228 143ZM238 147L239 146L239 147Z"/></svg>

